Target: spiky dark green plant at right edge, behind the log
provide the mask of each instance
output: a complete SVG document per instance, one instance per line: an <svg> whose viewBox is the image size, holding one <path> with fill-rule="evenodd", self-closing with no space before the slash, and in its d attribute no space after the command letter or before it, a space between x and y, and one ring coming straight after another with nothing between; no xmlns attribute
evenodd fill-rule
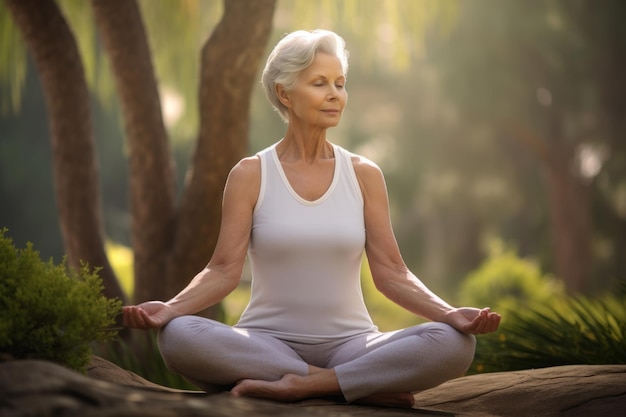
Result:
<svg viewBox="0 0 626 417"><path fill-rule="evenodd" d="M573 364L626 364L626 298L561 298L510 310L478 338L472 372Z"/></svg>

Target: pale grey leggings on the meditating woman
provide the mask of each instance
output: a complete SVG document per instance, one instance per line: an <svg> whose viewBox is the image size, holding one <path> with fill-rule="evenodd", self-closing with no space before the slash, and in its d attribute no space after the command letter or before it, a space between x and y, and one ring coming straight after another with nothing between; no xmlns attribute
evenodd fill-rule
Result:
<svg viewBox="0 0 626 417"><path fill-rule="evenodd" d="M170 370L208 392L230 389L241 379L307 375L313 365L335 369L348 402L432 388L463 374L475 348L473 336L443 323L303 344L196 316L172 320L158 343Z"/></svg>

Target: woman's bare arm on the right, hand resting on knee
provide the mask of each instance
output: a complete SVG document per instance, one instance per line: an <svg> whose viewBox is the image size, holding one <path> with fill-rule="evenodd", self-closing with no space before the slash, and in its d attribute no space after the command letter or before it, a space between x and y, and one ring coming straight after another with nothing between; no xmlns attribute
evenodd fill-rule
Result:
<svg viewBox="0 0 626 417"><path fill-rule="evenodd" d="M448 323L464 333L493 332L500 315L489 308L455 308L424 285L406 266L393 233L387 187L380 168L353 156L364 200L365 251L376 288L394 303L428 320Z"/></svg>

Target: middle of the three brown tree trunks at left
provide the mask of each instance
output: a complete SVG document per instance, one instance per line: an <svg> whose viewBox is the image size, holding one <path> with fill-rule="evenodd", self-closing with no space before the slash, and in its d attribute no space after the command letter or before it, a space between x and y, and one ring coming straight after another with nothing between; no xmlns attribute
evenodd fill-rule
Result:
<svg viewBox="0 0 626 417"><path fill-rule="evenodd" d="M130 158L134 301L166 300L175 227L173 160L145 28L134 0L93 0L123 110Z"/></svg>

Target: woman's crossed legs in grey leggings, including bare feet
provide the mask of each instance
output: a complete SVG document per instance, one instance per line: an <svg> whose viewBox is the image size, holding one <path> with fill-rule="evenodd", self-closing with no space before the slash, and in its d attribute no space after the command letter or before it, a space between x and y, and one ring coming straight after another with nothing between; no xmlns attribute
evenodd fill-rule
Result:
<svg viewBox="0 0 626 417"><path fill-rule="evenodd" d="M474 339L450 326L428 323L398 332L350 338L324 368L307 364L286 343L218 322L181 317L159 335L170 369L203 389L277 401L343 395L349 401L413 405L411 392L463 373Z"/></svg>

